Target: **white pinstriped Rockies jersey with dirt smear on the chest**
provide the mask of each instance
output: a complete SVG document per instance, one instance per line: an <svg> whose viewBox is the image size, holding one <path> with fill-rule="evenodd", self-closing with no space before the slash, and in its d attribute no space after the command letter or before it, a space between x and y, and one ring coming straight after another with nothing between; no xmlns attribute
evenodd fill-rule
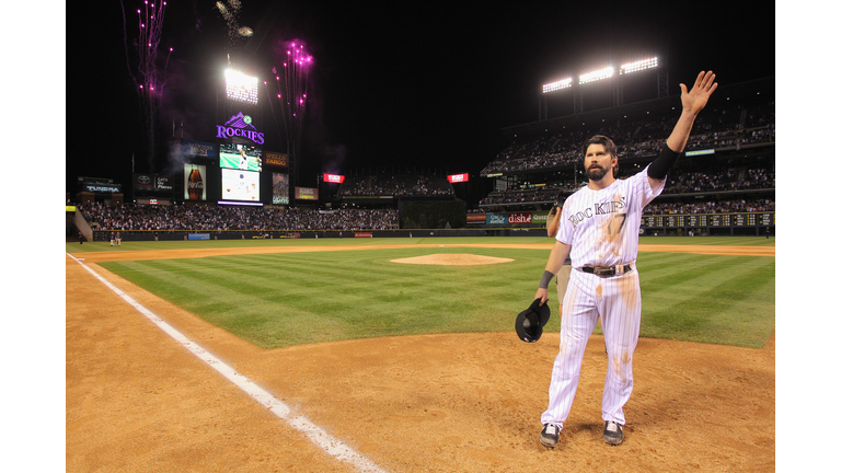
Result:
<svg viewBox="0 0 841 473"><path fill-rule="evenodd" d="M573 267L615 266L636 259L643 208L660 195L648 168L601 191L581 187L564 203L555 239L572 245Z"/></svg>

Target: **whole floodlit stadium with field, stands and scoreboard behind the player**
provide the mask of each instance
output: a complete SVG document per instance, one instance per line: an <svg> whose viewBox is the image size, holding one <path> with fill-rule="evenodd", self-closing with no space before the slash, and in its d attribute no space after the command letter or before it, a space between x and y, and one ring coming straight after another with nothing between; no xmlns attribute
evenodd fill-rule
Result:
<svg viewBox="0 0 841 473"><path fill-rule="evenodd" d="M67 176L66 471L774 471L775 77L722 81L633 230L625 442L601 439L599 326L550 450L555 282L538 343L515 318L553 249L551 209L588 183L581 143L611 137L619 180L658 157L675 84L693 80L673 78L677 54L532 78L534 119L492 130L477 160L313 172L322 57L287 43L268 77L231 46L263 31L234 5L216 7L226 72L189 90L200 118L172 118L178 99L143 82L139 165ZM147 79L170 60L139 58Z"/></svg>

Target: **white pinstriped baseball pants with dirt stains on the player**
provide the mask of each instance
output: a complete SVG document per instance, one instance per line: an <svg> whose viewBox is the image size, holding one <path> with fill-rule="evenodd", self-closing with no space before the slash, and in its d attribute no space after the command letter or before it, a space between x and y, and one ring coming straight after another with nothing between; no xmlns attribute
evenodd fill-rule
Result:
<svg viewBox="0 0 841 473"><path fill-rule="evenodd" d="M601 401L601 418L625 424L622 407L634 387L632 361L640 337L640 275L636 265L622 276L602 278L573 269L564 297L561 344L552 368L549 407L541 424L563 428L573 406L587 341L601 316L608 349L608 373Z"/></svg>

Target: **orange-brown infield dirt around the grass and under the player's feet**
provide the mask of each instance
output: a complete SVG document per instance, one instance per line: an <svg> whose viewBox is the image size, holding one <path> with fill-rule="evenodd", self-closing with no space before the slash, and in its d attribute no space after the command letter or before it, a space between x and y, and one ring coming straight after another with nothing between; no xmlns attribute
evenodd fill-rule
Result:
<svg viewBox="0 0 841 473"><path fill-rule="evenodd" d="M773 256L773 249L764 247L650 246L640 250L759 250ZM306 251L319 250L342 251ZM389 472L774 471L773 338L763 349L641 338L634 393L625 406L625 441L610 447L601 439L600 415L607 360L601 336L592 335L572 414L558 447L546 450L538 436L556 333L535 344L523 344L511 331L263 350L95 264L234 251L80 256L181 333ZM69 256L66 280L68 472L353 471Z"/></svg>

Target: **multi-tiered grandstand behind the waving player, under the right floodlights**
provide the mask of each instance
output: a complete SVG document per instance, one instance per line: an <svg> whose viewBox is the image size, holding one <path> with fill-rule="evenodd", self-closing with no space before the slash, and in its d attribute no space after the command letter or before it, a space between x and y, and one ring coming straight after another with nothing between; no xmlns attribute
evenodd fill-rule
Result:
<svg viewBox="0 0 841 473"><path fill-rule="evenodd" d="M719 86L696 119L686 157L663 195L646 208L650 218L644 219L643 233L686 234L693 227L699 227L696 234L760 234L760 228L764 234L764 227L773 231L774 91L773 77ZM548 212L556 198L587 183L579 147L592 135L617 143L620 178L638 172L659 153L679 106L677 96L670 96L504 129L509 145L481 172L493 180L493 191L469 221L481 226L483 212ZM702 215L716 217L702 221ZM745 224L730 222L730 217ZM542 220L534 226L545 224ZM488 217L484 224L489 222Z"/></svg>

